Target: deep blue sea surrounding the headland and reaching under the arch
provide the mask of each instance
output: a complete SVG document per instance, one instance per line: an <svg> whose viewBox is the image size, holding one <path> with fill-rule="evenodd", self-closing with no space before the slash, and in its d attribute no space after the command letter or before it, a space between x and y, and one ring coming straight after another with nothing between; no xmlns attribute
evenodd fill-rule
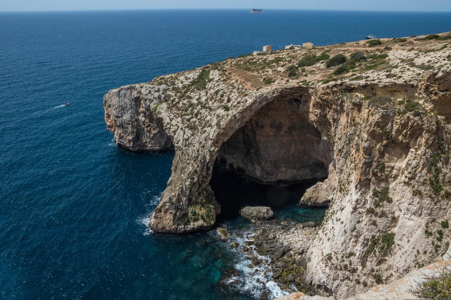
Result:
<svg viewBox="0 0 451 300"><path fill-rule="evenodd" d="M175 236L147 229L174 155L117 148L103 120L103 95L263 45L450 30L451 13L0 13L0 296L201 300L280 294L276 287L263 291L240 250L214 231ZM296 206L299 189L281 193L217 176L226 212L218 225L234 233L232 240L250 230L233 213L246 199L270 203L279 219L321 220L324 214ZM249 193L253 189L259 193ZM278 206L281 198L285 206ZM242 278L238 289L221 284L233 269Z"/></svg>

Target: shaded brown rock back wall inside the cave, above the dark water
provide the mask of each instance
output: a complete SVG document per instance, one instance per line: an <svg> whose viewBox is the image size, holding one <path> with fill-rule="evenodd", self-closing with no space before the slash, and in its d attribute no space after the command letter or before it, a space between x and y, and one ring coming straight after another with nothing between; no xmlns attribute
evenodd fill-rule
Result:
<svg viewBox="0 0 451 300"><path fill-rule="evenodd" d="M263 184L290 184L326 178L331 152L308 122L306 102L276 99L221 145L217 161Z"/></svg>

